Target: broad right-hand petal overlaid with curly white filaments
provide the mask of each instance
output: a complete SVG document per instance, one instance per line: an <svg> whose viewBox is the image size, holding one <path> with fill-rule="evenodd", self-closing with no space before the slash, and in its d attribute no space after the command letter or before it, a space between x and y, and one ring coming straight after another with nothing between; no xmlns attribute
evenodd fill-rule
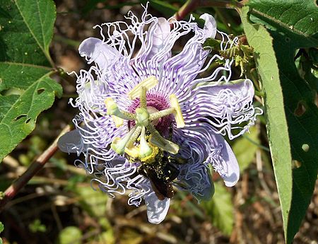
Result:
<svg viewBox="0 0 318 244"><path fill-rule="evenodd" d="M230 139L234 139L247 132L254 124L256 116L261 114L261 110L254 108L252 104L253 97L253 83L246 79L227 83L204 83L195 88L187 98L179 100L179 103L186 124L201 117L213 125L214 132L223 136L228 134ZM207 117L213 119L208 120ZM239 124L244 122L247 124L240 127Z"/></svg>

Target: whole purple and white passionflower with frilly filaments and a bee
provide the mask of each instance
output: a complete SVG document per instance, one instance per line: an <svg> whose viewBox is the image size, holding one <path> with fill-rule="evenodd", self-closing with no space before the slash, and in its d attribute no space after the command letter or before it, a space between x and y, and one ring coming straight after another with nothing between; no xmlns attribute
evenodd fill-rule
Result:
<svg viewBox="0 0 318 244"><path fill-rule="evenodd" d="M96 25L102 39L90 37L79 47L92 66L76 75L78 98L70 102L80 112L59 148L83 153L76 165L111 197L128 194L136 206L144 199L151 223L165 219L173 186L211 198L208 165L225 185L235 185L240 170L223 136L247 132L257 115L252 82L230 81L233 61L202 47L218 35L225 50L237 38L218 31L211 15L200 18L204 28L193 18L155 18L145 8L141 20L128 13L130 24ZM174 54L185 35L192 37ZM224 65L208 71L218 59Z"/></svg>

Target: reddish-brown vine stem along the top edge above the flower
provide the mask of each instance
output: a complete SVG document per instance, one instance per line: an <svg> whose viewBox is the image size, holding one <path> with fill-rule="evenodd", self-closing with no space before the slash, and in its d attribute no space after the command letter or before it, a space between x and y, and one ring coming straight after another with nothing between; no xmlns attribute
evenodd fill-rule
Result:
<svg viewBox="0 0 318 244"><path fill-rule="evenodd" d="M189 13L198 7L218 7L218 8L242 8L247 0L240 2L237 1L223 1L223 0L188 0L180 9L175 13L175 19L181 21Z"/></svg>

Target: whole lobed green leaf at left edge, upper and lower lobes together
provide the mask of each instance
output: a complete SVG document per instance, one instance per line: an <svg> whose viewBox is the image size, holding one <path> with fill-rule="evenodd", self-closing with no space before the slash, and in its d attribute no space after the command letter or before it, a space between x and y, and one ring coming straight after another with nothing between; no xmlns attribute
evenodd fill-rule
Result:
<svg viewBox="0 0 318 244"><path fill-rule="evenodd" d="M35 128L61 86L49 76L56 13L52 0L4 0L0 6L0 161Z"/></svg>

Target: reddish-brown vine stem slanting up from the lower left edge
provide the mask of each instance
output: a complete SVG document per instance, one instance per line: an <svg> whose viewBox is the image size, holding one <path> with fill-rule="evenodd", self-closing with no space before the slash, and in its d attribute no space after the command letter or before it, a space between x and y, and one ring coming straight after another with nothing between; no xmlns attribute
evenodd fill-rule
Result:
<svg viewBox="0 0 318 244"><path fill-rule="evenodd" d="M53 143L45 150L38 158L31 163L29 168L16 181L14 181L4 192L4 196L0 200L0 212L4 210L6 204L18 194L18 192L39 172L45 163L49 161L54 153L57 151L57 141L59 137L71 130L71 126L66 126Z"/></svg>

